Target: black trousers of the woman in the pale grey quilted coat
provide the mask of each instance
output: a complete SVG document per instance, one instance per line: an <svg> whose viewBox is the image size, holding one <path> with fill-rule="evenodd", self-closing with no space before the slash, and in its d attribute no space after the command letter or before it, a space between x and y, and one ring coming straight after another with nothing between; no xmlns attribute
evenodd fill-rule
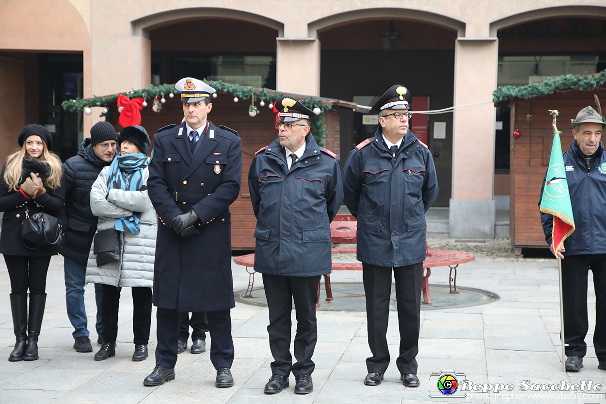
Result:
<svg viewBox="0 0 606 404"><path fill-rule="evenodd" d="M133 342L136 345L147 345L151 327L151 288L131 288L133 295ZM102 322L103 340L116 342L118 338L118 307L122 288L102 284Z"/></svg>

